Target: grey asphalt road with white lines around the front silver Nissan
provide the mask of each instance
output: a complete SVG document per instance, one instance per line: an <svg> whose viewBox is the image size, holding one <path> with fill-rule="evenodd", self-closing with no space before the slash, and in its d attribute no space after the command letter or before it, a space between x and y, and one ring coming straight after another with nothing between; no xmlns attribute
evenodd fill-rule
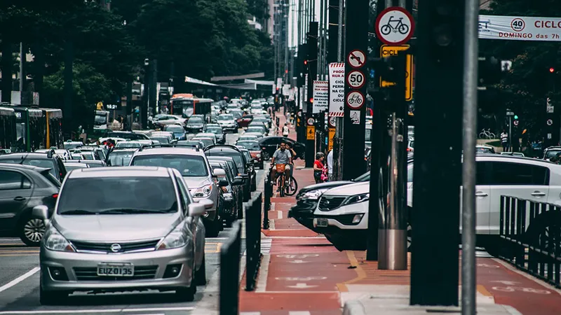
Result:
<svg viewBox="0 0 561 315"><path fill-rule="evenodd" d="M238 134L227 134L234 144ZM257 181L264 171L257 170ZM39 248L27 247L19 239L0 238L0 315L4 314L212 314L218 309L217 272L222 243L233 232L224 228L218 237L208 237L205 245L206 286L199 286L194 302L175 302L174 293L143 291L133 293L74 293L64 306L39 303ZM245 251L245 244L242 245ZM214 296L214 297L212 297ZM203 300L203 297L205 299Z"/></svg>

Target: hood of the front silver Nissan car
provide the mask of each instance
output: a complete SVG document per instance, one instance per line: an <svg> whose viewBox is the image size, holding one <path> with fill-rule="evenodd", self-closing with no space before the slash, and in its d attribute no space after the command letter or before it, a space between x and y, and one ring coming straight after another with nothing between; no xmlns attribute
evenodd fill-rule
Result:
<svg viewBox="0 0 561 315"><path fill-rule="evenodd" d="M67 239L76 241L134 241L165 237L179 223L174 214L105 214L55 216L53 225Z"/></svg>

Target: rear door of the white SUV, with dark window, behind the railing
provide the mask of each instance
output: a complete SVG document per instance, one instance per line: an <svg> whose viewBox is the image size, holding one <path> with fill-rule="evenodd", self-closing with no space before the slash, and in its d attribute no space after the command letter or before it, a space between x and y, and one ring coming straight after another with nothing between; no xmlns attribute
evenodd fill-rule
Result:
<svg viewBox="0 0 561 315"><path fill-rule="evenodd" d="M491 207L489 234L499 234L501 196L512 196L535 202L547 202L549 169L528 162L490 162Z"/></svg>

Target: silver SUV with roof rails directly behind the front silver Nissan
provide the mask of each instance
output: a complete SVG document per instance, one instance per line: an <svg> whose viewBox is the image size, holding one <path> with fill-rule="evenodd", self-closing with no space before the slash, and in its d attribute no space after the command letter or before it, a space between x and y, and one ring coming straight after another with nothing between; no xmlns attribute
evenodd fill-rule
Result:
<svg viewBox="0 0 561 315"><path fill-rule="evenodd" d="M218 213L219 187L215 183L208 160L199 148L181 145L152 145L140 148L130 159L130 166L172 167L183 176L195 201L208 199L212 208L203 218L207 236L217 237L223 229Z"/></svg>

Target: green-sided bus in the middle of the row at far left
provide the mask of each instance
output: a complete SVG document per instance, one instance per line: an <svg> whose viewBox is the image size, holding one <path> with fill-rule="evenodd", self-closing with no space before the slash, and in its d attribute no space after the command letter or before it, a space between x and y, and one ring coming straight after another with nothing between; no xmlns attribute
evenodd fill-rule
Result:
<svg viewBox="0 0 561 315"><path fill-rule="evenodd" d="M15 106L15 131L17 133L18 151L33 152L46 148L43 141L46 122L43 111L39 108Z"/></svg>

